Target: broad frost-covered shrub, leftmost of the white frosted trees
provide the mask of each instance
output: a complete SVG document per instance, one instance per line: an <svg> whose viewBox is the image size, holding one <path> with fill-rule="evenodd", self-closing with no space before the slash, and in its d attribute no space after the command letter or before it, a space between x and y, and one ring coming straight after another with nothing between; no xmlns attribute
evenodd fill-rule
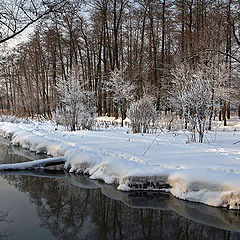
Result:
<svg viewBox="0 0 240 240"><path fill-rule="evenodd" d="M58 123L64 124L71 131L91 129L96 116L94 93L84 89L77 71L73 71L67 81L57 85L61 107L56 110Z"/></svg>

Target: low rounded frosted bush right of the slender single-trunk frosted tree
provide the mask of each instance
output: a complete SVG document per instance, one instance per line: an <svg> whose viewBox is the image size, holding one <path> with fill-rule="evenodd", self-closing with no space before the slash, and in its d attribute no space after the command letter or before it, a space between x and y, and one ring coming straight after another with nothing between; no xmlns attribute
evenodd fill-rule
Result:
<svg viewBox="0 0 240 240"><path fill-rule="evenodd" d="M146 133L150 127L155 125L158 118L154 99L148 96L133 102L127 114L131 120L133 133Z"/></svg>

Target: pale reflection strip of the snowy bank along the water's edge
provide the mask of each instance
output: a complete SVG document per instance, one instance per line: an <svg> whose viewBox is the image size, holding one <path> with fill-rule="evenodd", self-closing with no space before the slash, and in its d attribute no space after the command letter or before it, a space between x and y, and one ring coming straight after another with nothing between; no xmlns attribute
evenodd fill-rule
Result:
<svg viewBox="0 0 240 240"><path fill-rule="evenodd" d="M67 178L72 185L82 188L89 188L89 186L94 188L95 185L95 188L101 188L105 196L120 200L131 208L173 210L185 218L202 224L240 232L240 211L183 201L163 192L120 192L113 185L93 181L86 176L68 173Z"/></svg>

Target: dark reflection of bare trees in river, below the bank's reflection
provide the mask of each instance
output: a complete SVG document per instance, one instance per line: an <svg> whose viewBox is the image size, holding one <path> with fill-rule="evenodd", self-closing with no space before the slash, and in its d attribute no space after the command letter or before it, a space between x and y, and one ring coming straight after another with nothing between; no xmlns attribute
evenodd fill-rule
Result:
<svg viewBox="0 0 240 240"><path fill-rule="evenodd" d="M37 205L42 226L56 239L239 239L240 234L185 219L173 211L130 208L100 189L65 179L6 176ZM134 198L134 194L131 196Z"/></svg>

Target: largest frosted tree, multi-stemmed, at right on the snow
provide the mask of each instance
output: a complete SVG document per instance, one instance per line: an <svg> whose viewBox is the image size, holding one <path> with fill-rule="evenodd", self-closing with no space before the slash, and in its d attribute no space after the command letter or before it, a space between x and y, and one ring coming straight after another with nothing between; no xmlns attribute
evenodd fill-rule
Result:
<svg viewBox="0 0 240 240"><path fill-rule="evenodd" d="M213 119L220 97L227 97L226 80L228 71L224 65L199 65L195 69L189 65L180 65L173 72L175 89L172 101L179 107L193 132L198 133L199 142L203 142L204 133Z"/></svg>

